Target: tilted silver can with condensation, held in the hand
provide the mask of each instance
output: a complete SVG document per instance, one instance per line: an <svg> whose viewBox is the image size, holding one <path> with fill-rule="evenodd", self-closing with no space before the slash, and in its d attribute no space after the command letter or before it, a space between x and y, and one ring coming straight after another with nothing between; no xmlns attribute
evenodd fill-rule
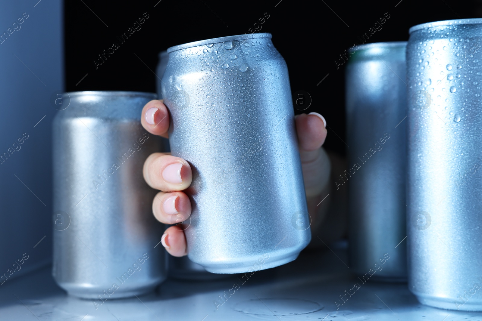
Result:
<svg viewBox="0 0 482 321"><path fill-rule="evenodd" d="M214 273L294 260L311 235L288 70L271 35L168 52L171 151L193 170L189 258Z"/></svg>

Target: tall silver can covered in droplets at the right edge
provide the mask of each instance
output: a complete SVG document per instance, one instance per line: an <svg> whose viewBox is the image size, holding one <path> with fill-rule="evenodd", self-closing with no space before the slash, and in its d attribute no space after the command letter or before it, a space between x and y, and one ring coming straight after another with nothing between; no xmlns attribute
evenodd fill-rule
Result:
<svg viewBox="0 0 482 321"><path fill-rule="evenodd" d="M482 310L482 19L414 26L407 45L409 289Z"/></svg>

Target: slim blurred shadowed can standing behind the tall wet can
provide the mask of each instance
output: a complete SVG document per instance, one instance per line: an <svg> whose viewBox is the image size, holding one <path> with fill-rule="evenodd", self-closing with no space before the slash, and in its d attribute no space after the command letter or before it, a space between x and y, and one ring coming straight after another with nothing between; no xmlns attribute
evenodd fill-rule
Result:
<svg viewBox="0 0 482 321"><path fill-rule="evenodd" d="M346 69L350 267L406 281L406 42L352 47ZM387 260L387 257L389 259ZM385 261L386 260L386 261ZM381 262L384 262L382 265ZM373 273L370 270L375 271Z"/></svg>

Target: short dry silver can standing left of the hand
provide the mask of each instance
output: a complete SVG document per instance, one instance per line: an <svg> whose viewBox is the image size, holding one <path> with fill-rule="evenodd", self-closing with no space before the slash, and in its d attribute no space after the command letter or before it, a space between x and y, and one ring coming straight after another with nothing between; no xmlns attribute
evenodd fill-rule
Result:
<svg viewBox="0 0 482 321"><path fill-rule="evenodd" d="M163 225L142 167L159 139L142 128L156 95L128 91L64 94L53 124L55 281L70 295L140 295L165 278ZM115 285L114 285L115 284ZM102 300L102 301L100 301Z"/></svg>

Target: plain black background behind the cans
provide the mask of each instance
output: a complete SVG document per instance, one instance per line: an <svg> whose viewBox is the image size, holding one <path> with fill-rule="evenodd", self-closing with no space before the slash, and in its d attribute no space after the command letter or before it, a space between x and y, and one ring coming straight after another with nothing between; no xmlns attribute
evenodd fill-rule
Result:
<svg viewBox="0 0 482 321"><path fill-rule="evenodd" d="M142 28L120 43L117 37L144 13L148 18ZM481 17L482 1L65 1L66 89L155 92L160 51L251 33L265 13L269 18L259 32L272 33L288 64L292 93L309 93L312 103L303 112L323 115L331 128L325 147L345 154L340 138L345 140L346 64L337 67L339 55L355 42L361 44L362 35L384 16L389 18L367 43L408 40L409 27L425 22ZM96 69L94 61L114 42L120 48Z"/></svg>

